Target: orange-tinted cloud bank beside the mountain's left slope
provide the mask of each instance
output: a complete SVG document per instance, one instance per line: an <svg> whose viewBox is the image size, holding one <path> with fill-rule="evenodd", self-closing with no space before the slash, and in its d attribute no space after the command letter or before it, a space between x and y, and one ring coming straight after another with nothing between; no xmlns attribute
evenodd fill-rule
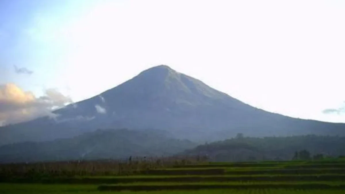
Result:
<svg viewBox="0 0 345 194"><path fill-rule="evenodd" d="M0 85L0 124L15 124L40 116L56 118L51 111L67 103L72 103L71 98L56 89L47 89L44 96L36 97L15 84Z"/></svg>

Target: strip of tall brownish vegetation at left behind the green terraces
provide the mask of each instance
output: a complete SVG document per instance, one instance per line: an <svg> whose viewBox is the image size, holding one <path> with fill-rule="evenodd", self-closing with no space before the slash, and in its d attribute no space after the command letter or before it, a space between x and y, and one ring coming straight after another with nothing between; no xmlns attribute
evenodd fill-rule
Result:
<svg viewBox="0 0 345 194"><path fill-rule="evenodd" d="M132 175L149 169L169 168L174 165L196 164L202 157L130 158L125 161L66 161L0 164L3 177L42 176L119 176Z"/></svg>

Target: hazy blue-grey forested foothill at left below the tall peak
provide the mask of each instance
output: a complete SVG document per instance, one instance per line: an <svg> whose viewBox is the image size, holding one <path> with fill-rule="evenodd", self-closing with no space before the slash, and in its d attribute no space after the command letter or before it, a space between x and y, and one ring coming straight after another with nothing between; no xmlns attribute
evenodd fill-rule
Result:
<svg viewBox="0 0 345 194"><path fill-rule="evenodd" d="M169 156L195 146L160 130L96 130L68 139L4 145L0 147L0 162Z"/></svg>

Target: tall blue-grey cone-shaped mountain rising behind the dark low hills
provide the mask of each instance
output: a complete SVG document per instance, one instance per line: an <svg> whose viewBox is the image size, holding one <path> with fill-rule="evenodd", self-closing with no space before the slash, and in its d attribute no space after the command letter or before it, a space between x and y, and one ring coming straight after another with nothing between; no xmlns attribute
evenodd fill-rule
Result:
<svg viewBox="0 0 345 194"><path fill-rule="evenodd" d="M97 128L155 128L178 138L207 141L237 133L345 134L345 124L269 113L164 65L147 69L115 88L53 113L54 118L1 127L0 144L73 137Z"/></svg>

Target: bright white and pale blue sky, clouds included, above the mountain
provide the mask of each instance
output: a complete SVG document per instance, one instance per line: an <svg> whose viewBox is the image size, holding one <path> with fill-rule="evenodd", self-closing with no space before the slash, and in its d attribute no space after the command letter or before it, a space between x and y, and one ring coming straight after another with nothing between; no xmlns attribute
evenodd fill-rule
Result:
<svg viewBox="0 0 345 194"><path fill-rule="evenodd" d="M258 108L345 123L345 1L0 1L0 125L161 64Z"/></svg>

